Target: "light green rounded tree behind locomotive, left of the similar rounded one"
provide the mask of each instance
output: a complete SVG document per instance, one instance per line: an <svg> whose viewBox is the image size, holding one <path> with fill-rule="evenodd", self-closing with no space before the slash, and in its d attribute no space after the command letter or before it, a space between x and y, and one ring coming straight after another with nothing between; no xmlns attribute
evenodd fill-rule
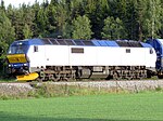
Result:
<svg viewBox="0 0 163 121"><path fill-rule="evenodd" d="M78 16L73 22L73 39L90 39L92 31L91 31L90 21L89 18L84 16Z"/></svg>

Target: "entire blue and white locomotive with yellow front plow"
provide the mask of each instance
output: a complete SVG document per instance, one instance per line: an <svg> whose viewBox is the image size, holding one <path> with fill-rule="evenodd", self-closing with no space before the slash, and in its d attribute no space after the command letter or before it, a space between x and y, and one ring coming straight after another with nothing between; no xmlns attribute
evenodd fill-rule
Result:
<svg viewBox="0 0 163 121"><path fill-rule="evenodd" d="M14 41L7 56L9 72L20 81L147 78L155 73L156 53L151 41L53 38Z"/></svg>

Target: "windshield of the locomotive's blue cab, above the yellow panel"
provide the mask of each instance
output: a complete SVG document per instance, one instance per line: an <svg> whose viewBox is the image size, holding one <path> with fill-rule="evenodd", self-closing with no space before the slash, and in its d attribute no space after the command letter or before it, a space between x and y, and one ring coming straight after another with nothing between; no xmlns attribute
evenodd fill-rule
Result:
<svg viewBox="0 0 163 121"><path fill-rule="evenodd" d="M28 45L18 42L10 46L8 54L24 54L27 53L27 50Z"/></svg>

